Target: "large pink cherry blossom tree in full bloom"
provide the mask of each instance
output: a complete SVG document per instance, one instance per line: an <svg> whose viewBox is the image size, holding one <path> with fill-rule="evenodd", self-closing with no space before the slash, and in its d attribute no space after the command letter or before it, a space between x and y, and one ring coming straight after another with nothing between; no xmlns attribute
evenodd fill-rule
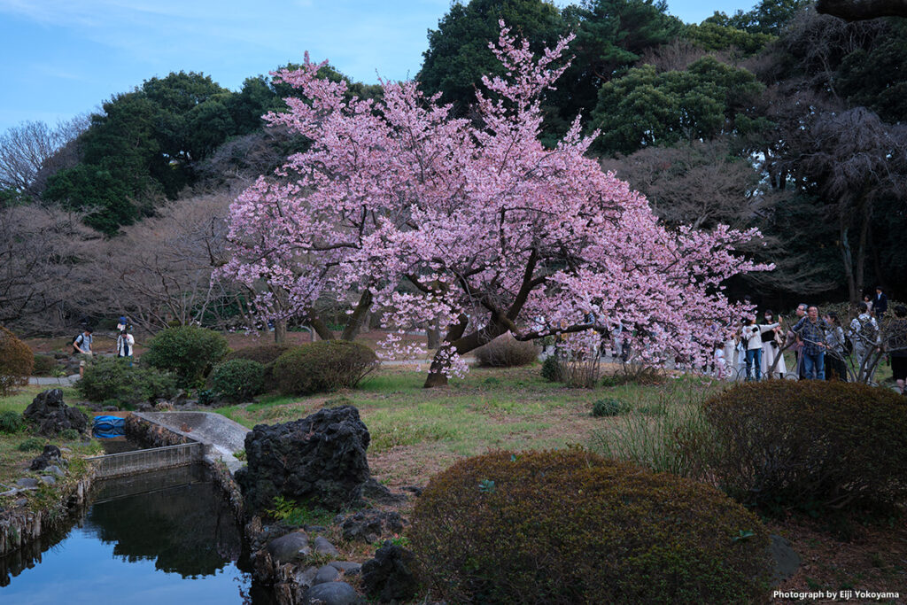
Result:
<svg viewBox="0 0 907 605"><path fill-rule="evenodd" d="M666 229L649 204L585 156L579 118L556 147L539 142L540 100L571 37L541 56L502 24L503 78L484 78L479 120L415 83L381 101L345 99L321 65L276 75L301 89L268 122L310 148L261 177L230 210L233 259L222 273L258 288L272 317L315 320L318 298L351 304L344 337L368 308L386 327L437 322L443 342L425 386L463 371L463 354L511 332L520 340L624 330L651 363L705 359L715 322L745 309L722 282L762 270L734 252L758 236L719 226ZM324 63L322 63L323 65ZM279 292L280 296L276 296ZM279 298L279 300L278 300ZM399 333L389 355L414 355Z"/></svg>

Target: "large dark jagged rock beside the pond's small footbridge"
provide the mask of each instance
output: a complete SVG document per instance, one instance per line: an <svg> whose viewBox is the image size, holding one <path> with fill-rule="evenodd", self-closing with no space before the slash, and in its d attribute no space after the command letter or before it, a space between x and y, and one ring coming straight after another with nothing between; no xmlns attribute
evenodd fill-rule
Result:
<svg viewBox="0 0 907 605"><path fill-rule="evenodd" d="M252 511L274 506L277 496L330 510L355 507L370 474L371 437L352 405L319 410L286 424L258 424L246 435L248 465L236 473Z"/></svg>

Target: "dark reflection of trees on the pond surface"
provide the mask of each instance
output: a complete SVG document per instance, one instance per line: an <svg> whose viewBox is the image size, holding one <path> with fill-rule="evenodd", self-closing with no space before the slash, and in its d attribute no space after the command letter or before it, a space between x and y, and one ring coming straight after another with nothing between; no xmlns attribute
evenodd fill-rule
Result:
<svg viewBox="0 0 907 605"><path fill-rule="evenodd" d="M183 578L211 575L239 558L239 528L211 483L95 504L85 530L114 542L125 561L156 559L155 567Z"/></svg>

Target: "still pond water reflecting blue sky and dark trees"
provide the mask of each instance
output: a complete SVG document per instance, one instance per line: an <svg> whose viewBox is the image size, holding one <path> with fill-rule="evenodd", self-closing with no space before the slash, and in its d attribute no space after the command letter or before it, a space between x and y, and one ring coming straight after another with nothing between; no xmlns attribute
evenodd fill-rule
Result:
<svg viewBox="0 0 907 605"><path fill-rule="evenodd" d="M68 533L0 559L0 603L269 604L244 571L233 512L200 473L186 467L99 485Z"/></svg>

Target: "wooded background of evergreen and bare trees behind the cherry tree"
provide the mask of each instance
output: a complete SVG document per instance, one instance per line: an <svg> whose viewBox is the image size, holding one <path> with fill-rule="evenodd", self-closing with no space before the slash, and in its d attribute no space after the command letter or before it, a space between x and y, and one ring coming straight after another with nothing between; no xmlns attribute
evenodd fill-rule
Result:
<svg viewBox="0 0 907 605"><path fill-rule="evenodd" d="M699 24L652 0L463 1L429 30L416 76L454 116L478 119L501 19L536 51L576 36L543 141L579 115L602 165L668 225L763 232L746 252L776 269L729 284L735 296L789 308L882 285L907 298L907 19L848 21L805 0ZM210 276L230 201L306 148L261 120L288 97L270 76L230 91L174 72L91 116L0 134L0 324L49 333L124 311L149 330L243 325L249 292Z"/></svg>

